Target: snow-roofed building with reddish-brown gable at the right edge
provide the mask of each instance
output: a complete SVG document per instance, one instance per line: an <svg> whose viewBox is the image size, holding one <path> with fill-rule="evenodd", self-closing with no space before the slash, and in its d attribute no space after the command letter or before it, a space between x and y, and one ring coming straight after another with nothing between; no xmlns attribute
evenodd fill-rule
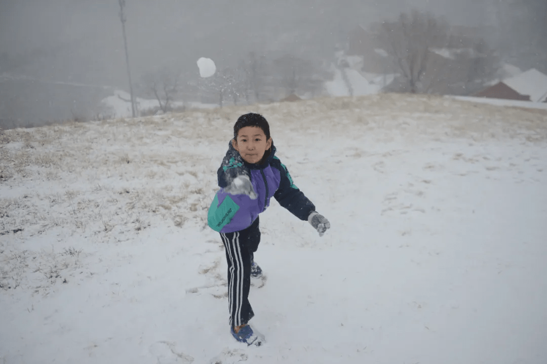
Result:
<svg viewBox="0 0 547 364"><path fill-rule="evenodd" d="M547 102L547 75L531 68L514 77L504 79L473 96Z"/></svg>

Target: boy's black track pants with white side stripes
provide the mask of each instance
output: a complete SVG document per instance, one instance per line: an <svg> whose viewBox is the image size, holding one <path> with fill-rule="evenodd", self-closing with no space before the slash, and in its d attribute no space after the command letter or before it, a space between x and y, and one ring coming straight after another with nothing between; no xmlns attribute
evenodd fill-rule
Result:
<svg viewBox="0 0 547 364"><path fill-rule="evenodd" d="M258 217L241 231L220 233L228 261L228 309L230 325L245 325L254 316L249 303L251 260L260 243Z"/></svg>

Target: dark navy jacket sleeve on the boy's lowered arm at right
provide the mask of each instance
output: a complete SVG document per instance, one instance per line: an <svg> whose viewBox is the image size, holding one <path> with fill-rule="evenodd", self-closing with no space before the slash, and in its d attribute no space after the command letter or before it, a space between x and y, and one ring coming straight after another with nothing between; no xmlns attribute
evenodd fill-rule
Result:
<svg viewBox="0 0 547 364"><path fill-rule="evenodd" d="M315 211L315 205L294 185L287 167L281 163L279 158L274 157L271 166L279 169L281 174L281 183L274 198L294 216L300 220L307 220L310 213Z"/></svg>

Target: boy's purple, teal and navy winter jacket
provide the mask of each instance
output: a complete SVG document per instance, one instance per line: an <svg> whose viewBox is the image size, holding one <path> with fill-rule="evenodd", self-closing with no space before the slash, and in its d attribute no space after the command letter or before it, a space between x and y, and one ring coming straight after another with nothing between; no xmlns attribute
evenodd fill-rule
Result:
<svg viewBox="0 0 547 364"><path fill-rule="evenodd" d="M229 143L228 152L217 172L220 190L214 196L207 214L209 227L221 233L243 230L251 226L258 214L270 206L272 197L300 220L307 220L315 206L294 185L287 167L275 156L275 152L272 143L270 150L266 151L269 155L263 158L262 163L251 164L245 162ZM224 187L229 186L239 175L251 179L258 198L224 192Z"/></svg>

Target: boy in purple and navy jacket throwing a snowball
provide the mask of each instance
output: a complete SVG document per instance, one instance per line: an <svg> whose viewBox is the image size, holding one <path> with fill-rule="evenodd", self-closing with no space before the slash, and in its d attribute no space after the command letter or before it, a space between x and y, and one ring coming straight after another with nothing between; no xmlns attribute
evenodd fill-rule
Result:
<svg viewBox="0 0 547 364"><path fill-rule="evenodd" d="M239 342L257 345L264 337L253 332L248 321L254 313L248 295L251 276L262 270L254 262L260 242L258 214L274 197L300 220L307 220L319 232L329 221L315 211L313 203L293 184L287 167L275 156L270 126L260 114L241 115L234 125L234 139L218 169L218 186L208 211L208 225L220 233L228 261L228 307L230 332Z"/></svg>

